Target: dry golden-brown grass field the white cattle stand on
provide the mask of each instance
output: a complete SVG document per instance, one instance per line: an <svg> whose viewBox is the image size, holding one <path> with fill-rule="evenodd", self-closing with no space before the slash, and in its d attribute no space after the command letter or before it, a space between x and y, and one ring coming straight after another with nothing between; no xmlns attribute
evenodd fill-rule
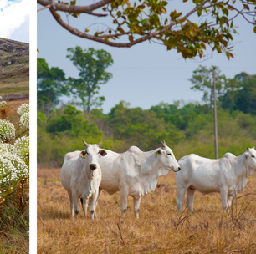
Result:
<svg viewBox="0 0 256 254"><path fill-rule="evenodd" d="M177 214L175 175L161 177L156 190L141 198L140 219L129 197L120 219L120 196L100 197L90 221L80 209L71 218L69 197L59 181L60 169L38 169L38 253L255 253L256 174L223 214L219 194L196 192L194 213L183 204ZM250 194L251 193L251 194ZM248 195L250 194L250 195ZM186 198L186 197L185 197Z"/></svg>

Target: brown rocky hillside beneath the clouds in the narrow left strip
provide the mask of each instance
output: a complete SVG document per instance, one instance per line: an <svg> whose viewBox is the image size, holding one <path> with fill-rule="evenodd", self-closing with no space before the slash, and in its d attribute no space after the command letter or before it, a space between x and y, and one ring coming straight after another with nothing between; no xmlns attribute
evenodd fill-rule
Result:
<svg viewBox="0 0 256 254"><path fill-rule="evenodd" d="M29 44L0 38L0 95L29 93Z"/></svg>

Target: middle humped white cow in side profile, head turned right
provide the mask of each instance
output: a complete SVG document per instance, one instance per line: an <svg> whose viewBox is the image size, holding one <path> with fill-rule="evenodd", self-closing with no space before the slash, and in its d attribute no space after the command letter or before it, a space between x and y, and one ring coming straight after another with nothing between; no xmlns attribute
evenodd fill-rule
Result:
<svg viewBox="0 0 256 254"><path fill-rule="evenodd" d="M118 154L106 150L107 156L99 160L102 180L99 197L102 190L110 195L120 190L121 216L125 217L128 196L133 197L134 212L139 218L141 196L155 190L158 177L167 175L170 170L181 170L177 160L166 142L161 142L161 148L148 152L131 146L125 153ZM74 157L79 151L73 153Z"/></svg>

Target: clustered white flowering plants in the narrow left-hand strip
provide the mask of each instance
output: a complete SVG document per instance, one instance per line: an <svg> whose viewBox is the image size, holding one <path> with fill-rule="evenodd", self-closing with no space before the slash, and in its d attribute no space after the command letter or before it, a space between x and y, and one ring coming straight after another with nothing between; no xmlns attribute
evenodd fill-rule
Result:
<svg viewBox="0 0 256 254"><path fill-rule="evenodd" d="M28 205L29 104L21 105L17 113L21 115L18 129L25 127L19 135L12 123L0 120L0 207L9 201L23 214Z"/></svg>

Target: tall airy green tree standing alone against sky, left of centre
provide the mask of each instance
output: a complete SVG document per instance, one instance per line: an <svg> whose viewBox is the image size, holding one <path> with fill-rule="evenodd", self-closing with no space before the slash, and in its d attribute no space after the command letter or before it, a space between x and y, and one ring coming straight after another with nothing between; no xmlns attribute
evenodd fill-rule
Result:
<svg viewBox="0 0 256 254"><path fill-rule="evenodd" d="M95 97L99 94L100 84L107 83L112 74L105 71L112 65L111 54L105 50L95 50L94 48L82 49L77 46L68 48L71 54L67 55L74 66L79 69L79 79L69 78L71 83L71 93L82 100L81 106L90 114L91 106L99 107L105 101L105 97Z"/></svg>

